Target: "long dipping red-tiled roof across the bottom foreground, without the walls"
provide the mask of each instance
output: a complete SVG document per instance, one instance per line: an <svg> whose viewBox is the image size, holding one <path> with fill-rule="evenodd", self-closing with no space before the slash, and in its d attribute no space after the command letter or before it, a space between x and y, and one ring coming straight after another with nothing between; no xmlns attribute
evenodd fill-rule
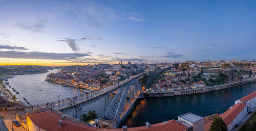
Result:
<svg viewBox="0 0 256 131"><path fill-rule="evenodd" d="M33 123L36 126L39 126L42 129L45 130L63 130L63 131L72 131L72 130L113 130L113 131L121 131L122 128L116 128L116 129L111 129L111 128L95 128L92 126L89 126L87 124L83 124L80 122L74 122L66 118L65 120L61 119L61 115L57 114L56 112L52 110L44 111L44 112L39 112L39 113L32 113L28 114L28 117L33 121ZM62 120L62 125L58 126L58 121ZM146 127L146 126L139 126L139 127L131 127L127 128L127 131L143 131L143 130L158 130L158 131L164 131L164 130L169 130L169 131L182 131L186 130L188 127L185 125L177 122L176 120L169 120L166 121L166 123L157 123L157 124L152 124L151 127Z"/></svg>

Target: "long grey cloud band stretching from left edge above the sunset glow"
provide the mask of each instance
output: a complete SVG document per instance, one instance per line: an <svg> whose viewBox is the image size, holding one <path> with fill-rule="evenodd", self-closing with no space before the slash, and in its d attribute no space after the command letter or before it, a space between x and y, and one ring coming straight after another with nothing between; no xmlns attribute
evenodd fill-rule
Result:
<svg viewBox="0 0 256 131"><path fill-rule="evenodd" d="M22 51L0 51L1 58L16 59L49 59L49 60L76 60L81 57L91 56L83 53L44 53L39 51L22 52Z"/></svg>

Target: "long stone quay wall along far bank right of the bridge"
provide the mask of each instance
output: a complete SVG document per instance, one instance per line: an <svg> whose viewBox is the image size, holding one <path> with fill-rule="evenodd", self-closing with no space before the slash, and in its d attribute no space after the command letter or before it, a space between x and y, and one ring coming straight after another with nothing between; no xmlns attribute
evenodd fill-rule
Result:
<svg viewBox="0 0 256 131"><path fill-rule="evenodd" d="M214 87L191 89L191 90L169 91L169 92L146 92L146 91L143 91L143 96L144 97L164 97L164 96L199 94L199 93L227 89L227 88L236 87L236 86L240 86L240 85L244 85L244 84L248 84L248 83L254 83L254 82L256 82L256 79L241 81L241 82L234 82L234 83L219 85L219 86L214 86Z"/></svg>

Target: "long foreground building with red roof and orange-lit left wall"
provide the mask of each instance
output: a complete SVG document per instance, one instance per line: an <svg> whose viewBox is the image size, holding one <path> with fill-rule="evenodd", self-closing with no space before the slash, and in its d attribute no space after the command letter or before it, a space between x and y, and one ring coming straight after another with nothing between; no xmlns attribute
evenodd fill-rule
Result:
<svg viewBox="0 0 256 131"><path fill-rule="evenodd" d="M136 130L169 130L169 131L186 131L188 129L187 126L181 124L176 120L168 120L165 122L157 123L157 124L150 124L146 122L145 126L139 127L131 127L127 128L127 126L123 126L123 128L97 128L93 127L81 122L78 122L77 119L72 118L68 115L65 115L55 109L52 108L45 108L39 109L35 111L29 111L27 113L27 125L26 129L29 131L44 131L44 130L61 130L61 131L96 131L96 130L115 130L115 131L136 131Z"/></svg>

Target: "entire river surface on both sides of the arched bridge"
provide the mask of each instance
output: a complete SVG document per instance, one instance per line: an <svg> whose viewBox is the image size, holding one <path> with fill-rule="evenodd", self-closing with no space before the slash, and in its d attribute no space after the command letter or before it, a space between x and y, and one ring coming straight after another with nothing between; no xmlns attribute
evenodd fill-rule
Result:
<svg viewBox="0 0 256 131"><path fill-rule="evenodd" d="M80 90L70 87L62 87L57 84L45 82L47 74L56 73L58 70L49 70L47 73L17 75L9 78L9 84L19 94L11 90L17 98L23 100L26 97L31 104L45 104L46 102L57 101L65 97L80 95ZM163 122L170 119L178 119L179 115L187 112L199 116L208 116L225 112L234 101L242 98L253 91L256 91L256 83L250 83L229 89L207 92L203 94L182 95L172 97L154 97L137 100L134 111L124 117L120 125L128 127L144 126L145 122L151 124ZM83 113L95 110L98 117L102 114L104 100L99 99L83 108Z"/></svg>

